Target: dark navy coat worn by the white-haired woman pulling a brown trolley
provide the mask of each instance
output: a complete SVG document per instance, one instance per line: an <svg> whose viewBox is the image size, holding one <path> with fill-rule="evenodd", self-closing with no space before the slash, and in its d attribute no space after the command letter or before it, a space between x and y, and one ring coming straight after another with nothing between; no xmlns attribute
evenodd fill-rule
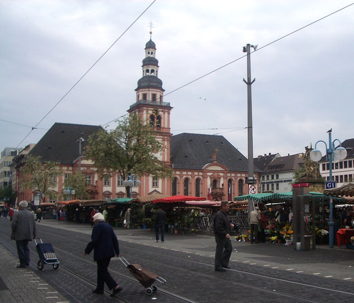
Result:
<svg viewBox="0 0 354 303"><path fill-rule="evenodd" d="M93 249L94 261L119 254L117 237L112 227L103 221L99 221L94 226L91 234L91 242L87 244L85 253L90 254Z"/></svg>

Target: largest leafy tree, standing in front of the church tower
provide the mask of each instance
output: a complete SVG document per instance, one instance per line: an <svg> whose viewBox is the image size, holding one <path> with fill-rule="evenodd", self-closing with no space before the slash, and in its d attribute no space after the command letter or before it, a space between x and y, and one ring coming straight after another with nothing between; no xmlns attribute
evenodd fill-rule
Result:
<svg viewBox="0 0 354 303"><path fill-rule="evenodd" d="M172 178L172 169L157 158L162 144L152 126L131 115L118 122L112 131L103 129L90 136L86 146L86 158L95 162L101 178L120 174L126 180L130 174L153 175ZM125 187L127 196L130 188Z"/></svg>

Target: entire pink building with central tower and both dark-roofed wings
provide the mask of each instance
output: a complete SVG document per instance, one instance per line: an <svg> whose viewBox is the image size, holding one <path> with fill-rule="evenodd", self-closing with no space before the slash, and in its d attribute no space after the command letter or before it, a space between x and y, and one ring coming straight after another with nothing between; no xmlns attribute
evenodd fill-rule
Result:
<svg viewBox="0 0 354 303"><path fill-rule="evenodd" d="M139 179L138 186L138 177L134 176L131 196L161 193L168 196L187 195L205 197L207 200L232 201L234 196L248 193L245 183L248 160L223 136L187 133L172 136L172 107L163 100L164 89L158 77L159 66L155 55L156 46L150 37L145 46L142 77L135 89L136 100L127 112L139 115L154 127L156 138L163 146L158 158L173 168L174 177L170 180L144 175ZM66 197L62 194L64 180L79 169L85 175L91 199L126 197L124 180L119 174L100 179L94 163L90 159L82 158L79 153L77 142L80 140L84 150L89 136L100 128L97 125L55 123L31 150L31 154L41 156L43 161L59 162L63 171L62 175L57 177L57 186L54 188L57 199L46 197L46 201L65 200ZM17 168L20 165L19 162ZM255 168L257 179L259 172L260 170ZM21 189L18 177L17 172L19 198L33 200L37 192Z"/></svg>

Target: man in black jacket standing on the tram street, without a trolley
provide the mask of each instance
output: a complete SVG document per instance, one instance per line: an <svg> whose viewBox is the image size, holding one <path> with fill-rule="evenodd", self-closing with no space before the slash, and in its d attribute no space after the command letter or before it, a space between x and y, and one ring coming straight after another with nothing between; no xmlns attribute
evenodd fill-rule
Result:
<svg viewBox="0 0 354 303"><path fill-rule="evenodd" d="M224 272L229 267L229 260L232 252L232 244L230 240L231 227L230 219L227 216L229 202L222 201L221 209L216 212L214 218L214 233L215 233L215 265L214 270Z"/></svg>

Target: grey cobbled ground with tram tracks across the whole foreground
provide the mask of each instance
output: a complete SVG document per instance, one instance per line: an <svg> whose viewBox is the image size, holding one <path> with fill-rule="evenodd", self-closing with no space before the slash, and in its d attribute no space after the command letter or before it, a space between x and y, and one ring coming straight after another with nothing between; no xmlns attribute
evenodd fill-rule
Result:
<svg viewBox="0 0 354 303"><path fill-rule="evenodd" d="M36 302L114 301L108 295L91 293L96 281L96 264L92 255L82 255L83 248L90 241L91 226L45 220L37 225L37 229L44 242L53 244L61 262L60 268L55 271L45 265L39 271L36 268L38 256L34 244L30 243L32 261L25 272L31 276L16 271L21 269L15 270L17 254L15 242L9 240L10 224L0 219L1 301L18 302L21 301L19 297L26 298L29 294L28 299L22 301L31 302L32 298ZM341 302L354 300L352 249L322 246L314 251L296 251L285 245L251 245L233 241L232 270L220 273L213 271L215 241L209 234L166 234L164 243L156 243L154 232L150 230L114 230L121 254L128 261L141 264L167 280L166 284L156 284L161 291L147 296L145 289L129 275L117 258L113 258L109 268L123 287L119 297L128 302L148 302L151 299L166 303L181 301L163 291L179 294L194 302L220 299L223 302L284 302L289 295L293 296L290 297L292 302L308 301L306 298L317 302L337 301L335 298L340 298ZM7 271L19 277L9 280ZM48 290L42 290L38 285L33 287L34 282L30 282L33 277L43 282L39 284L48 284L45 286L49 287ZM26 287L19 287L21 284ZM335 289L337 293L325 288ZM55 291L58 295L52 296L58 298L47 298L50 296L48 292ZM299 293L305 299L296 297Z"/></svg>

